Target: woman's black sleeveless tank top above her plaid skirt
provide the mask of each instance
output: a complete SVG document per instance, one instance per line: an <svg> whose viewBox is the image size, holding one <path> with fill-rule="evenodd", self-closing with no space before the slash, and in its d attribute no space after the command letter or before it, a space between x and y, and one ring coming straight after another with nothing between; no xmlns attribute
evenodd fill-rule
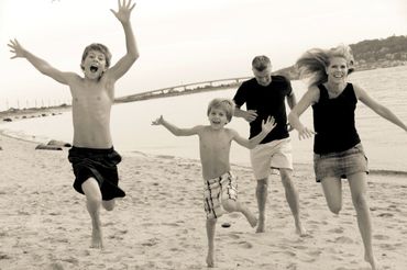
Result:
<svg viewBox="0 0 407 270"><path fill-rule="evenodd" d="M319 101L312 105L314 153L329 154L344 151L361 142L355 128L354 110L358 98L352 83L342 93L330 99L328 90L319 85Z"/></svg>

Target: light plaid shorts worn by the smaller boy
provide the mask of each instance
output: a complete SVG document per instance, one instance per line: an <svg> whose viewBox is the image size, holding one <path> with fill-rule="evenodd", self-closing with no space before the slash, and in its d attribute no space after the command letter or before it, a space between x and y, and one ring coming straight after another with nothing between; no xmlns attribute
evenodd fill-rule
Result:
<svg viewBox="0 0 407 270"><path fill-rule="evenodd" d="M238 182L231 172L226 172L221 177L205 181L204 205L207 218L218 218L223 215L223 200L238 199Z"/></svg>

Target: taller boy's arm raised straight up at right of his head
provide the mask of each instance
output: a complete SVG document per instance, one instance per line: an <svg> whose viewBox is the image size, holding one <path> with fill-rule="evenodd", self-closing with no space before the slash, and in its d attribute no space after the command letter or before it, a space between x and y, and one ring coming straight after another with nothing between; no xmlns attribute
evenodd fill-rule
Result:
<svg viewBox="0 0 407 270"><path fill-rule="evenodd" d="M109 70L111 76L117 80L122 77L133 65L133 63L139 58L139 49L136 47L133 30L130 22L130 15L134 9L135 3L132 4L131 0L127 2L123 0L121 3L118 0L119 9L118 11L110 10L114 16L120 21L123 26L125 35L125 47L127 54Z"/></svg>

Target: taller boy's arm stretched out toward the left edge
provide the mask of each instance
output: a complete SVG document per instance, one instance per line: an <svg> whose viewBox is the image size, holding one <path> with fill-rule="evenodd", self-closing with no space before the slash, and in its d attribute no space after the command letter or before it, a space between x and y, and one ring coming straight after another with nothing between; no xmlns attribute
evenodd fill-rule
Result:
<svg viewBox="0 0 407 270"><path fill-rule="evenodd" d="M45 60L38 58L37 56L33 55L23 46L20 45L20 43L16 40L11 40L8 46L11 48L10 52L14 54L14 56L11 57L11 59L14 58L25 58L28 61L30 61L40 72L43 75L46 75L54 80L68 85L69 78L73 78L76 76L74 72L63 72L53 66L51 66Z"/></svg>

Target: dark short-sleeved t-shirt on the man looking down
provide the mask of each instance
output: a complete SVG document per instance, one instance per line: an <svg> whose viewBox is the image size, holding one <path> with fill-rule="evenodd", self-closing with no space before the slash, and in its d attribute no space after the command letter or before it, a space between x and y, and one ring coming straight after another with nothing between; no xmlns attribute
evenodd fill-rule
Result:
<svg viewBox="0 0 407 270"><path fill-rule="evenodd" d="M250 138L262 132L262 121L274 116L277 126L268 133L261 144L289 136L287 131L287 113L285 98L293 92L292 83L283 76L272 76L272 82L263 87L256 79L244 81L238 89L233 100L238 108L244 103L246 110L255 110L257 117L250 123Z"/></svg>

